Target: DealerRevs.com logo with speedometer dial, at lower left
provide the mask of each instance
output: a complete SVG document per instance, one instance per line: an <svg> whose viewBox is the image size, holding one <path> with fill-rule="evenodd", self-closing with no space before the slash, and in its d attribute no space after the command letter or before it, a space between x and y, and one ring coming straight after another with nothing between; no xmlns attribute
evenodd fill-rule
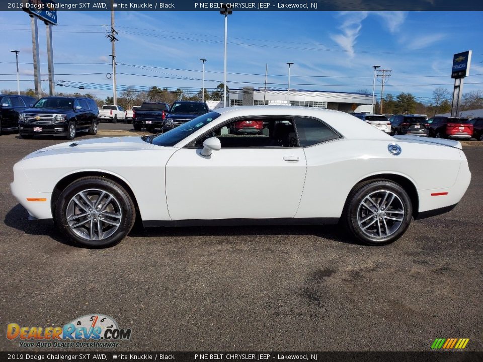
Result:
<svg viewBox="0 0 483 362"><path fill-rule="evenodd" d="M19 340L20 347L109 348L131 338L131 329L119 328L104 314L86 314L62 327L27 327L17 323L7 326L7 338Z"/></svg>

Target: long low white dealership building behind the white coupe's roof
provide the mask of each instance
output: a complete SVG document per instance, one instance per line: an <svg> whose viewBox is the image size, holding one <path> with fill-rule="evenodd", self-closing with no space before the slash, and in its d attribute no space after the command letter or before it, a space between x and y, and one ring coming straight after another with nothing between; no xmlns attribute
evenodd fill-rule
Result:
<svg viewBox="0 0 483 362"><path fill-rule="evenodd" d="M230 106L286 106L287 89L267 89L244 87L229 89ZM372 95L345 92L321 92L290 90L290 105L313 108L327 108L336 111L359 111L372 105ZM357 109L359 107L359 109Z"/></svg>

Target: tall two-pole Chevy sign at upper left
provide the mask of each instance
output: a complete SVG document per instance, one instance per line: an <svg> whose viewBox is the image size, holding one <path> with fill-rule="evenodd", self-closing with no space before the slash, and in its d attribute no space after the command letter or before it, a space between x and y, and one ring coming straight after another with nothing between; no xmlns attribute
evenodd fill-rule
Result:
<svg viewBox="0 0 483 362"><path fill-rule="evenodd" d="M52 49L52 25L57 25L57 10L55 3L51 0L27 0L24 3L24 11L30 15L32 28L32 53L34 56L34 82L35 94L38 98L42 96L42 85L40 84L40 56L39 56L39 31L37 19L45 23L47 33L47 63L49 67L49 95L54 95L54 55Z"/></svg>

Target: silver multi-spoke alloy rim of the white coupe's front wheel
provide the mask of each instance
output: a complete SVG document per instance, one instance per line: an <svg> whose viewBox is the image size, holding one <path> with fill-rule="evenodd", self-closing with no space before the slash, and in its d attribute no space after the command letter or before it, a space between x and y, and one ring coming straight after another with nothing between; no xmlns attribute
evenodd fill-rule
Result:
<svg viewBox="0 0 483 362"><path fill-rule="evenodd" d="M75 194L65 211L72 232L86 240L103 240L121 225L122 210L116 197L104 190L88 189Z"/></svg>

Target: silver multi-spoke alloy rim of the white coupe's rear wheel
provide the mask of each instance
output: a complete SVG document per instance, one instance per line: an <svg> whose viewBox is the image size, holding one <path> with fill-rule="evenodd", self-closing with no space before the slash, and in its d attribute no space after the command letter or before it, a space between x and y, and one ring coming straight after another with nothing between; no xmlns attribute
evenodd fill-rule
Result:
<svg viewBox="0 0 483 362"><path fill-rule="evenodd" d="M375 239L384 239L394 234L403 225L404 204L388 190L378 190L366 196L357 208L357 223L364 234Z"/></svg>

